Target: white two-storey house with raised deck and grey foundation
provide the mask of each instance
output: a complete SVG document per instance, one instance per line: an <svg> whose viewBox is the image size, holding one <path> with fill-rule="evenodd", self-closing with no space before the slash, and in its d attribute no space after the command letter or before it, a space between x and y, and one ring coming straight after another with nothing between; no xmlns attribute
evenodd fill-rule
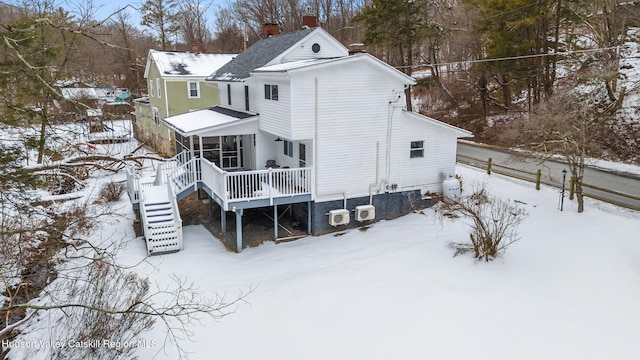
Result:
<svg viewBox="0 0 640 360"><path fill-rule="evenodd" d="M406 111L411 77L322 28L265 37L208 80L220 105L164 120L188 177L168 178L178 197L202 188L235 212L238 250L247 208L277 221L292 204L317 235L427 207L472 135Z"/></svg>

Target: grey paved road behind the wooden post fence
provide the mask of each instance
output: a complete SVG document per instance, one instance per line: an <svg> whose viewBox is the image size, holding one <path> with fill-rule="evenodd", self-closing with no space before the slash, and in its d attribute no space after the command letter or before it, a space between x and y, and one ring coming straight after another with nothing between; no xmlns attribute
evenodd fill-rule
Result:
<svg viewBox="0 0 640 360"><path fill-rule="evenodd" d="M569 170L566 163L558 161L539 164L530 158L516 157L509 151L465 142L458 143L458 162L460 163L486 169L489 158L492 159L492 169L496 173L535 181L535 173L541 169L542 182L558 188L562 186L562 170ZM567 174L567 189L570 176ZM638 175L589 166L585 169L584 184L586 196L640 210L640 176ZM610 191L602 191L599 188Z"/></svg>

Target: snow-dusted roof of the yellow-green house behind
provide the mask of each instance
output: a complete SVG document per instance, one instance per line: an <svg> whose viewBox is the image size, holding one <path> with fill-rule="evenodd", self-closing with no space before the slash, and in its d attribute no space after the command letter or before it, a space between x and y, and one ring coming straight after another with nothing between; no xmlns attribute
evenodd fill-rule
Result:
<svg viewBox="0 0 640 360"><path fill-rule="evenodd" d="M187 51L149 50L145 78L149 76L150 62L155 62L164 77L200 77L209 76L211 72L228 63L236 54L208 54Z"/></svg>

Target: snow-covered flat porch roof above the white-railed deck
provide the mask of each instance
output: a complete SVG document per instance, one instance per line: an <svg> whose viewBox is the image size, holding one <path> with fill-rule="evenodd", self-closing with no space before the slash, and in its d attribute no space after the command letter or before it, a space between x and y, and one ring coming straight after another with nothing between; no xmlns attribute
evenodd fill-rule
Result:
<svg viewBox="0 0 640 360"><path fill-rule="evenodd" d="M192 136L230 126L257 122L258 115L229 109L223 106L214 106L170 116L164 118L162 121L170 129L173 129L182 136Z"/></svg>

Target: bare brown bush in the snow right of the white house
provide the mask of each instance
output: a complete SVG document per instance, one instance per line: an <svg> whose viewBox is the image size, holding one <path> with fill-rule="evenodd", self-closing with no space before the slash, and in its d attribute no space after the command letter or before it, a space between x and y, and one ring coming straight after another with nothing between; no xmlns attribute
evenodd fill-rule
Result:
<svg viewBox="0 0 640 360"><path fill-rule="evenodd" d="M454 256L474 253L479 260L491 261L518 238L518 226L526 212L517 203L498 199L484 188L469 196L444 197L436 211L441 217L471 219L470 242L451 242Z"/></svg>

